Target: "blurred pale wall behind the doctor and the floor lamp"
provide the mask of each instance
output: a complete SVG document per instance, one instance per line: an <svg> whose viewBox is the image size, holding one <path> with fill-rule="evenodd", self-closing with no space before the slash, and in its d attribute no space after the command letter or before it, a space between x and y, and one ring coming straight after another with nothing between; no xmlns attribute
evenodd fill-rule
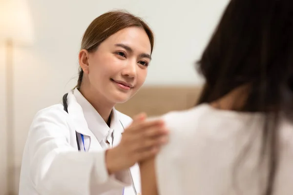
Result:
<svg viewBox="0 0 293 195"><path fill-rule="evenodd" d="M126 9L144 18L156 36L146 85L195 85L202 79L194 62L219 20L228 0L28 0L35 42L15 49L14 193L25 138L36 112L60 102L76 83L78 52L88 24L106 11ZM20 32L21 33L21 32ZM3 49L0 50L3 55ZM3 60L3 58L0 58ZM2 61L1 61L2 62ZM1 63L0 62L0 63ZM5 80L0 69L0 193L5 189ZM5 193L4 193L5 194Z"/></svg>

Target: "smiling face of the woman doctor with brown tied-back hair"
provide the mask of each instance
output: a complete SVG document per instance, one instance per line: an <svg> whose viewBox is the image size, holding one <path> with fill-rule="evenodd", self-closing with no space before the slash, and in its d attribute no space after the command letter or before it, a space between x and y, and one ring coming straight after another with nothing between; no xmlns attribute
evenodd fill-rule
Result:
<svg viewBox="0 0 293 195"><path fill-rule="evenodd" d="M131 98L146 80L151 45L144 29L129 27L105 39L88 53L88 81L112 103Z"/></svg>

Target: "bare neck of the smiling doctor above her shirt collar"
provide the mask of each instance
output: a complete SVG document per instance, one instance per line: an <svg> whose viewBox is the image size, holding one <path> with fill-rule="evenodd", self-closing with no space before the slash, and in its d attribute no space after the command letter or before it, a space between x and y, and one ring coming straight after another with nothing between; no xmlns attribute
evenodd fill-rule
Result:
<svg viewBox="0 0 293 195"><path fill-rule="evenodd" d="M99 94L97 90L91 89L88 86L82 85L79 91L109 125L109 118L115 103L110 102L102 94Z"/></svg>

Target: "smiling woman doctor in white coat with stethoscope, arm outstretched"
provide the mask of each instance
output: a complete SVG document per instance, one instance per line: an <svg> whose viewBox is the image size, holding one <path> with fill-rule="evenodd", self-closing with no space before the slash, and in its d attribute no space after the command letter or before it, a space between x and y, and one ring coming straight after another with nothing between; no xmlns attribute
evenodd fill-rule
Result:
<svg viewBox="0 0 293 195"><path fill-rule="evenodd" d="M34 117L20 195L140 193L134 165L158 152L167 130L163 121L146 121L144 114L132 121L114 105L143 85L153 44L151 29L131 14L108 12L92 21L82 39L77 87L63 96L63 104Z"/></svg>

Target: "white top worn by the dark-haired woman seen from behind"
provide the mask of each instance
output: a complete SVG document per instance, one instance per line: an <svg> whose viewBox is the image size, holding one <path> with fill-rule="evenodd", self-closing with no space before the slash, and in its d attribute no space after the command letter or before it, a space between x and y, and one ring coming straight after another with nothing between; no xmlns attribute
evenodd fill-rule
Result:
<svg viewBox="0 0 293 195"><path fill-rule="evenodd" d="M163 118L170 139L156 158L159 195L262 194L267 166L258 166L261 114L222 111L202 104ZM280 125L273 195L293 195L293 124L282 120Z"/></svg>

